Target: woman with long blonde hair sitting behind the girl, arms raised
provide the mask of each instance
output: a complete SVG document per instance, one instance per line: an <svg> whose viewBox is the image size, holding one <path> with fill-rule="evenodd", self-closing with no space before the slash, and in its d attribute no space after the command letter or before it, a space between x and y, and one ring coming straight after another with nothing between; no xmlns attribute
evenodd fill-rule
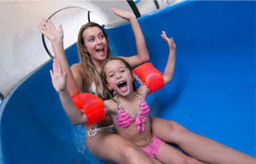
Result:
<svg viewBox="0 0 256 164"><path fill-rule="evenodd" d="M141 28L134 14L113 9L114 14L130 22L137 44L137 56L123 57L134 68L149 59L149 54ZM43 23L45 26L43 26ZM81 92L96 92L102 97L102 82L100 75L102 64L112 56L108 47L108 36L97 24L89 23L82 26L77 41L80 63L69 68L63 48L63 30L46 20L39 23L39 30L51 41L55 58L60 61L64 72L67 72L67 86L70 94ZM185 153L194 158L209 163L255 163L255 158L222 145L207 137L188 131L175 121L151 117L152 133L161 140L178 145ZM91 129L106 127L113 123L107 117L100 123L93 124ZM164 129L164 130L163 130ZM168 129L168 130L167 130ZM134 144L115 133L97 132L94 137L86 137L86 145L90 152L105 162L115 163L154 163ZM111 150L111 151L108 151ZM191 163L191 161L187 161Z"/></svg>

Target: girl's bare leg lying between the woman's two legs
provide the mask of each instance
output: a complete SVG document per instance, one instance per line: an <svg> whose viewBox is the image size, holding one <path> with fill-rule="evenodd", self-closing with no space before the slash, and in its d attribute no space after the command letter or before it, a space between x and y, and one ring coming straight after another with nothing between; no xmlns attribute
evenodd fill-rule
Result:
<svg viewBox="0 0 256 164"><path fill-rule="evenodd" d="M159 155L156 157L165 164L203 164L195 158L183 154L171 145L163 143L159 148Z"/></svg>

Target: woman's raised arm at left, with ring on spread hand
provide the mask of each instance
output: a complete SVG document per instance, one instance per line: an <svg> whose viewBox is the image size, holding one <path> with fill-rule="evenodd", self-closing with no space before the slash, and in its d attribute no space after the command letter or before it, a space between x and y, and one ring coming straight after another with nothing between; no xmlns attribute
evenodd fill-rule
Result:
<svg viewBox="0 0 256 164"><path fill-rule="evenodd" d="M56 29L51 20L46 21L43 19L43 23L40 22L38 24L38 29L51 41L55 58L59 60L64 72L67 72L67 88L69 93L72 96L78 94L82 87L82 75L80 73L79 66L72 66L72 68L69 67L63 47L62 26L60 25L59 29Z"/></svg>

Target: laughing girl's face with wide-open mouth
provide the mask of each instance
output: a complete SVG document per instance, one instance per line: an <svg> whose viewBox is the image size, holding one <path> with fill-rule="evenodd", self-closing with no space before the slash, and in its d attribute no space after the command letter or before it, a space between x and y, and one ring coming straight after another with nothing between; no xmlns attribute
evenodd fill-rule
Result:
<svg viewBox="0 0 256 164"><path fill-rule="evenodd" d="M120 60L112 60L106 64L104 73L109 90L114 90L118 95L127 96L133 93L134 75Z"/></svg>

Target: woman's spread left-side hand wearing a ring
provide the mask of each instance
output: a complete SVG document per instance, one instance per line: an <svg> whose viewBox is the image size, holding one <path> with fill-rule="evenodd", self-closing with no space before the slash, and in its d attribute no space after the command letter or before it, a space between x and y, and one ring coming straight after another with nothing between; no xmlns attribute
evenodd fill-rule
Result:
<svg viewBox="0 0 256 164"><path fill-rule="evenodd" d="M60 25L59 29L56 29L51 20L43 19L38 24L38 30L43 33L50 41L62 41L63 40L63 28Z"/></svg>

